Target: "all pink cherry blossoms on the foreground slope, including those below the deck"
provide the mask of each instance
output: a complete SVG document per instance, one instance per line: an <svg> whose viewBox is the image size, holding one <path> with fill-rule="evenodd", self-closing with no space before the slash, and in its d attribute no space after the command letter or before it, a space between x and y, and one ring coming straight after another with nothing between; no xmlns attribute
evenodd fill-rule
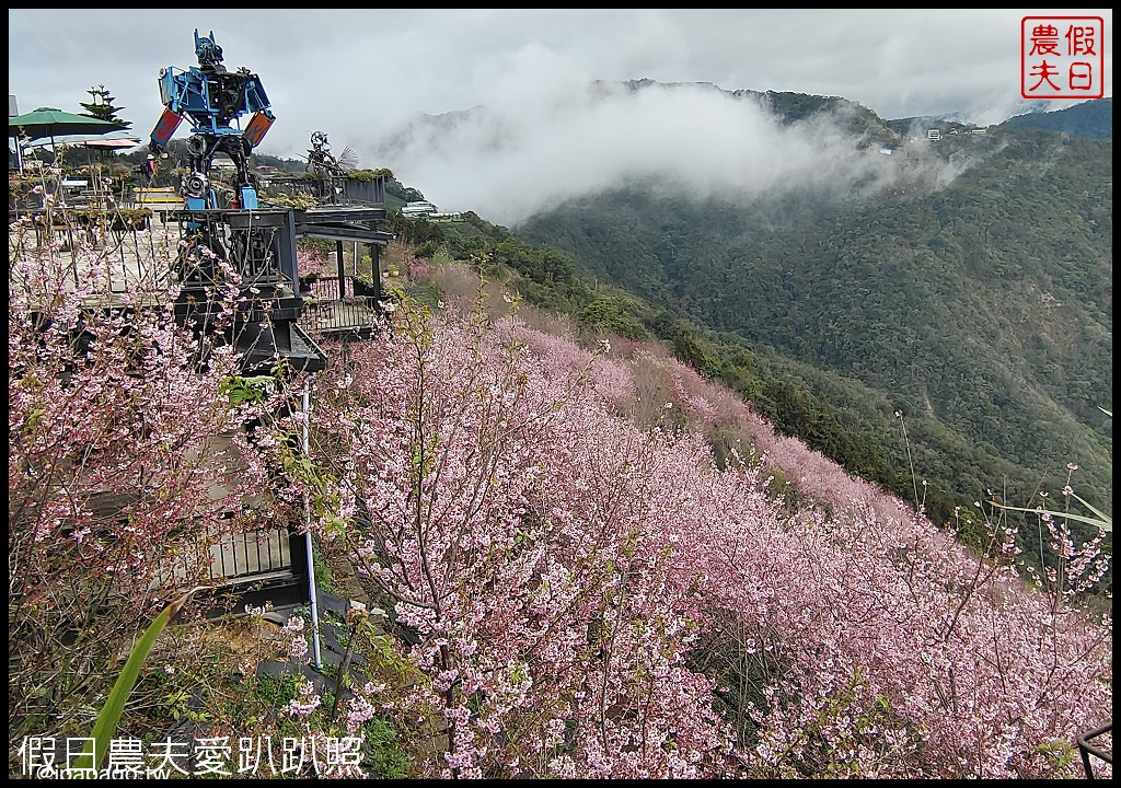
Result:
<svg viewBox="0 0 1121 788"><path fill-rule="evenodd" d="M362 740L351 777L1066 778L1111 719L1099 540L1044 520L1053 568L1020 576L1007 520L966 548L652 345L433 279L325 370L243 377L166 279L109 298L104 249L9 256L12 775L90 735L228 538L289 526L386 615L349 609L328 675L300 614L192 601L126 744Z"/></svg>

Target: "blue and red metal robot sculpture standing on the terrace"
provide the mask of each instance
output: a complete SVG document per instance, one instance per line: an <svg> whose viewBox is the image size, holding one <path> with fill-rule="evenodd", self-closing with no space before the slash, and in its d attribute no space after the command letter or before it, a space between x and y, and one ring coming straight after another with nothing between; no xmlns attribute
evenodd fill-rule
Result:
<svg viewBox="0 0 1121 788"><path fill-rule="evenodd" d="M192 124L189 171L183 179L187 207L217 207L210 185L210 169L214 156L224 152L237 168L239 205L256 208L257 188L249 175L249 156L276 119L269 110L268 96L260 78L248 68L226 71L222 65L222 47L214 41L213 31L200 37L195 30L195 55L197 67L180 71L168 66L160 71L159 92L165 109L152 129L148 147L159 155L183 119L188 118ZM244 130L231 124L250 113L252 117Z"/></svg>

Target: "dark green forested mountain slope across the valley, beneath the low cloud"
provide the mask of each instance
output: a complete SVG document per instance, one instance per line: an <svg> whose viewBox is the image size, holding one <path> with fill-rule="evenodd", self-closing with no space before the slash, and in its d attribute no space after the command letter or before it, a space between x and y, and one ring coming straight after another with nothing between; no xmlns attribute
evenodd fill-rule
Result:
<svg viewBox="0 0 1121 788"><path fill-rule="evenodd" d="M1112 141L923 142L895 151L910 175L872 196L743 204L633 183L516 231L775 364L826 371L802 382L854 428L897 441L904 412L917 472L962 500L1026 502L1075 463L1111 509ZM939 161L961 174L927 177Z"/></svg>

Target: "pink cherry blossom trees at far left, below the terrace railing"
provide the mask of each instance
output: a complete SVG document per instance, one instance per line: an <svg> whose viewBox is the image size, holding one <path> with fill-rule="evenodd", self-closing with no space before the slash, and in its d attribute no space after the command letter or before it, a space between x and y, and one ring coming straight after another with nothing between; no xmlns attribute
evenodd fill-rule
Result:
<svg viewBox="0 0 1121 788"><path fill-rule="evenodd" d="M267 514L247 506L266 476L231 349L176 324L174 288L110 293L104 250L19 243L28 230L9 257L11 749L89 735L137 633Z"/></svg>

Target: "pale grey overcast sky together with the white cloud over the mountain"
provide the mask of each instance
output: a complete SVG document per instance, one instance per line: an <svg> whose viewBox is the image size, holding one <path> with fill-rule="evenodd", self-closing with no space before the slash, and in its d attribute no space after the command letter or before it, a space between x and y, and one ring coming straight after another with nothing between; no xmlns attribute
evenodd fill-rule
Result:
<svg viewBox="0 0 1121 788"><path fill-rule="evenodd" d="M352 147L360 166L389 167L443 210L513 224L667 166L701 191L863 166L844 164L852 151L830 130L781 130L715 92L591 101L593 81L837 95L884 119L990 124L1030 109L1025 16L1102 17L1112 96L1110 9L9 9L8 92L20 112L81 112L104 85L147 139L159 71L197 65L194 30L213 30L226 67L248 67L268 94L276 122L261 152L297 158L324 131L336 155ZM479 122L408 131L417 113L475 106ZM187 136L184 123L176 138Z"/></svg>

